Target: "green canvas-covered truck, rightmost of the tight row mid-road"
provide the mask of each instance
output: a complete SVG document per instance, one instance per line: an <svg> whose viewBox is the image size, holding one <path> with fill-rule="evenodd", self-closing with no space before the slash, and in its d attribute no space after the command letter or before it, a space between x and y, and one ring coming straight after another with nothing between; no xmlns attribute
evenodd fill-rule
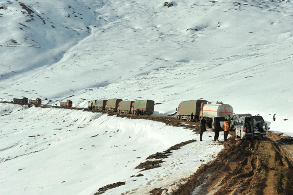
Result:
<svg viewBox="0 0 293 195"><path fill-rule="evenodd" d="M154 112L155 101L153 100L136 100L133 104L132 114L151 115Z"/></svg>

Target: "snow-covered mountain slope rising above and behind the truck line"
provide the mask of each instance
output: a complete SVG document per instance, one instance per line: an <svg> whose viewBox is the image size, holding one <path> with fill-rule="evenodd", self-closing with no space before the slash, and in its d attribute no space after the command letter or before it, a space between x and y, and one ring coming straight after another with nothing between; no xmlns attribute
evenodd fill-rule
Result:
<svg viewBox="0 0 293 195"><path fill-rule="evenodd" d="M291 1L163 3L1 2L0 98L147 98L160 114L204 98L292 131Z"/></svg>

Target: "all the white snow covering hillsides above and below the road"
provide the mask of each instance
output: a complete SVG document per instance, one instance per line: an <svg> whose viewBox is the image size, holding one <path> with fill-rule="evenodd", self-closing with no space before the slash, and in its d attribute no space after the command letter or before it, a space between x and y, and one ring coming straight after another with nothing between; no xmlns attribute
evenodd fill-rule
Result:
<svg viewBox="0 0 293 195"><path fill-rule="evenodd" d="M181 101L204 98L293 133L293 2L164 2L0 0L0 101L71 99L86 108L93 99L151 99L161 103L154 114L168 115ZM6 195L93 195L118 181L126 185L105 194L171 192L222 149L207 132L203 144L130 178L148 155L198 135L146 120L6 104L0 127Z"/></svg>

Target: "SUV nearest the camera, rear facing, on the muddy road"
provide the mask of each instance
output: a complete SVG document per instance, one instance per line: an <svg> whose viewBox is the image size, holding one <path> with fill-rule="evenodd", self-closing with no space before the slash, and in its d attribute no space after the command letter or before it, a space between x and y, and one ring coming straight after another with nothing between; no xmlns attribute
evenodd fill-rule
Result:
<svg viewBox="0 0 293 195"><path fill-rule="evenodd" d="M241 139L252 136L266 137L268 126L261 116L242 116L235 123L235 133Z"/></svg>

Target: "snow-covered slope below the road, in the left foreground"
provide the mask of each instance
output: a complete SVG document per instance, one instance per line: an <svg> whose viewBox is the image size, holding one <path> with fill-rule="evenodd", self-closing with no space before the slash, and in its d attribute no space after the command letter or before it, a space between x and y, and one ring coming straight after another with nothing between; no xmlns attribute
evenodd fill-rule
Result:
<svg viewBox="0 0 293 195"><path fill-rule="evenodd" d="M79 110L0 103L0 123L1 195L93 195L116 182L126 184L106 195L172 191L174 182L223 149L211 132L199 142L198 134L182 127ZM135 169L147 156L192 139L197 141L172 151L161 167Z"/></svg>

